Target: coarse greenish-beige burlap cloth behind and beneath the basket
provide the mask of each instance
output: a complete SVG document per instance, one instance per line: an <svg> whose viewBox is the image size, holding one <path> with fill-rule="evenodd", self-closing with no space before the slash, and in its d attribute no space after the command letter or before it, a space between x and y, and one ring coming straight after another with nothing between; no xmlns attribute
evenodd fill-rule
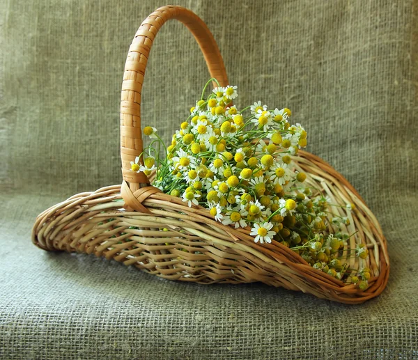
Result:
<svg viewBox="0 0 418 360"><path fill-rule="evenodd" d="M261 284L162 281L31 244L36 215L121 182L118 109L137 27L162 1L2 1L1 359L418 359L418 1L177 1L208 24L239 104L289 107L353 183L392 260L360 306ZM208 79L158 34L144 123L166 139Z"/></svg>

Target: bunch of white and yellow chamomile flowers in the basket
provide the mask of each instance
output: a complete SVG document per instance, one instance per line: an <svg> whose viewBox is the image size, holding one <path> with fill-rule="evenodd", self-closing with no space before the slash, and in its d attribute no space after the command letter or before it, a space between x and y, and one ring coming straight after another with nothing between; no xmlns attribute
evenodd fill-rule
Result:
<svg viewBox="0 0 418 360"><path fill-rule="evenodd" d="M344 250L354 234L345 233L347 217L327 217L330 199L306 185L293 159L307 146L307 132L292 125L291 110L260 101L238 109L237 86L215 87L190 109L190 116L166 146L154 127L145 127L150 146L131 163L132 171L156 172L153 185L189 206L207 208L225 226L244 228L254 242L279 242L312 267L336 279L368 286L370 269L351 269L350 256L366 258L364 244ZM160 157L163 149L167 156ZM348 204L353 208L353 204ZM345 251L351 251L347 254ZM349 256L348 256L349 255ZM341 260L343 259L343 260Z"/></svg>

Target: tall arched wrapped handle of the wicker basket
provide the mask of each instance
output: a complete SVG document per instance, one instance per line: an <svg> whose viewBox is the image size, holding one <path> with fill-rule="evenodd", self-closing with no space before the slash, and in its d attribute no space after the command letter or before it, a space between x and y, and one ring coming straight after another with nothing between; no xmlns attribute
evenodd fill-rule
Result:
<svg viewBox="0 0 418 360"><path fill-rule="evenodd" d="M191 10L181 6L162 6L149 15L135 34L130 45L123 74L121 97L121 159L123 189L121 194L125 203L134 210L145 211L140 205L144 200L142 187L149 187L150 180L140 172L130 170L130 162L143 150L141 136L141 89L148 55L157 32L169 19L178 19L191 31L199 44L211 77L219 81L221 86L228 84L224 61L217 43L206 24ZM141 159L142 162L142 159ZM149 189L149 188L148 188ZM147 191L155 192L155 191ZM135 194L137 193L137 194ZM141 193L141 196L139 196ZM136 205L135 205L136 204Z"/></svg>

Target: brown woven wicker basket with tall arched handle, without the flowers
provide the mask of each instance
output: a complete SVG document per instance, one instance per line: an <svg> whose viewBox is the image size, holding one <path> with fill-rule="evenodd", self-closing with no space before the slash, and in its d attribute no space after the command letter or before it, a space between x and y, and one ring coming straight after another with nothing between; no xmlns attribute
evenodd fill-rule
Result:
<svg viewBox="0 0 418 360"><path fill-rule="evenodd" d="M33 243L49 251L94 253L125 265L134 265L164 279L196 283L251 283L309 292L336 302L359 304L376 297L387 284L387 244L378 221L350 183L322 159L300 151L294 157L309 185L338 203L330 218L348 217L350 237L346 249L364 243L369 257L348 258L351 268L371 269L369 288L359 290L314 269L288 247L272 241L256 244L249 229L231 228L215 221L200 206L189 208L180 198L163 194L150 185L153 175L130 171L143 147L141 139L141 88L153 40L169 19L178 19L192 31L210 75L228 84L224 62L206 24L178 6L155 10L139 27L125 64L121 100L122 185L103 187L71 196L38 215ZM348 211L346 204L354 203ZM347 252L346 252L347 253Z"/></svg>

